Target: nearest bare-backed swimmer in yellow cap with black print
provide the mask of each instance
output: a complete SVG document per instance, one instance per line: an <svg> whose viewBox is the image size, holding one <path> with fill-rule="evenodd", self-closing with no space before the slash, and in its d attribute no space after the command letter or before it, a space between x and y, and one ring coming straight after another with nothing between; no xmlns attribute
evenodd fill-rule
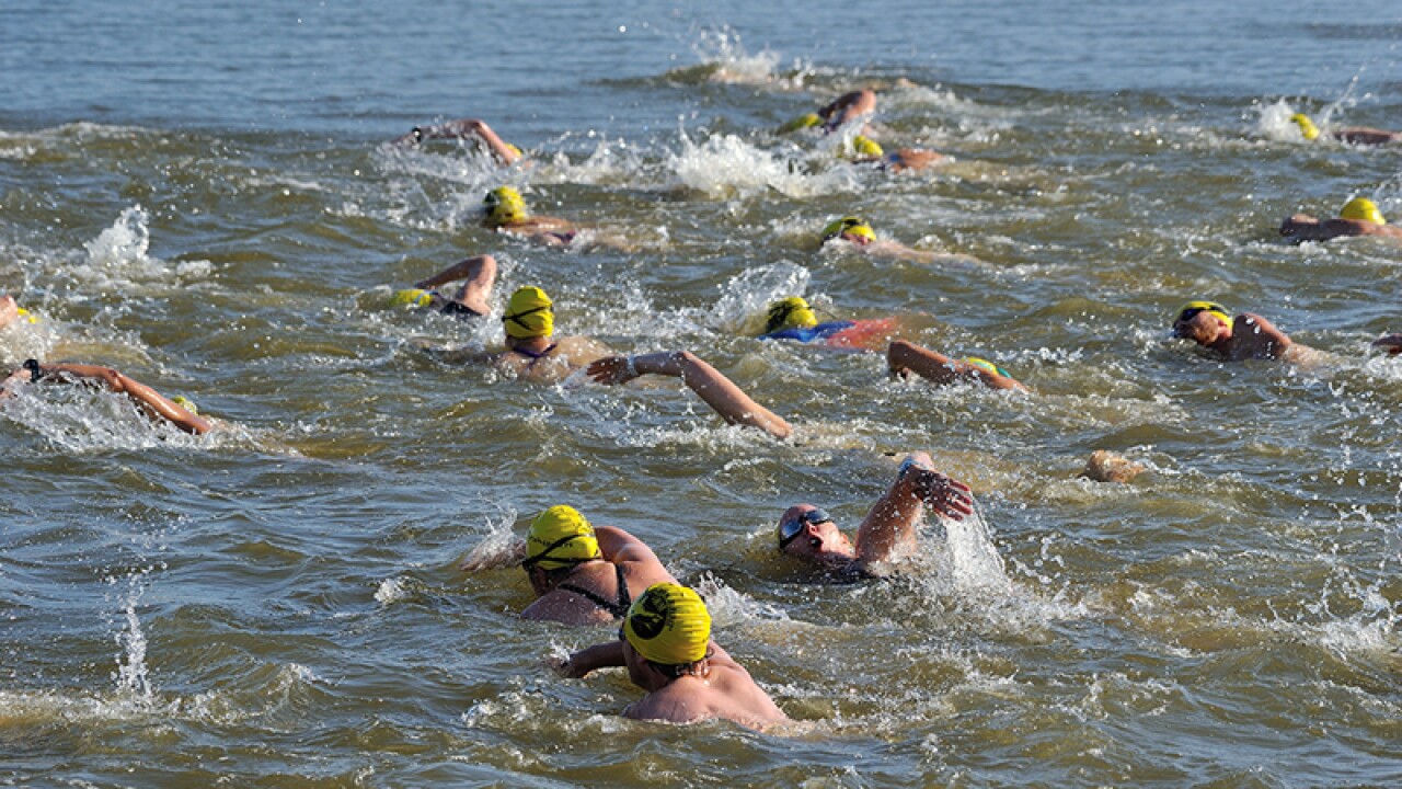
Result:
<svg viewBox="0 0 1402 789"><path fill-rule="evenodd" d="M730 720L763 730L788 720L750 672L711 640L711 612L694 590L648 587L628 608L617 642L571 654L555 668L582 678L596 668L628 667L648 694L622 715L637 720Z"/></svg>

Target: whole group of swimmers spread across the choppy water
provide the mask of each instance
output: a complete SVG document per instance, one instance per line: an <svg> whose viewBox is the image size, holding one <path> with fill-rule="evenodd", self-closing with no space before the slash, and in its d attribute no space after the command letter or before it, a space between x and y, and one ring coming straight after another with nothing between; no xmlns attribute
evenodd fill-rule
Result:
<svg viewBox="0 0 1402 789"><path fill-rule="evenodd" d="M875 105L872 91L852 91L780 131L855 131L858 133L844 146L848 156L889 171L920 170L942 159L923 149L886 153L871 139L865 125ZM1297 115L1295 122L1307 139L1321 135L1307 117ZM1378 129L1336 129L1330 135L1370 145L1398 139ZM502 166L512 166L523 157L519 147L506 143L478 119L415 128L393 145L416 146L447 138L481 140ZM533 215L520 191L509 185L486 194L482 222L501 233L548 246L572 244L579 233L568 220ZM1359 234L1402 237L1402 232L1388 226L1378 208L1366 198L1350 201L1336 219L1321 222L1305 215L1291 216L1281 226L1281 233L1297 241ZM830 222L822 232L822 244L829 243L848 244L872 254L920 254L894 241L878 240L872 226L858 216ZM400 291L394 303L467 320L485 319L494 312L496 274L492 256L468 257ZM787 420L757 403L697 354L681 350L618 355L587 337L557 336L554 307L544 289L534 285L519 288L508 298L501 317L505 350L463 351L453 358L492 365L529 382L558 382L579 369L601 385L621 385L645 375L674 376L730 424L753 427L778 439L792 434ZM11 296L0 295L0 327L34 320L36 317ZM1301 352L1300 345L1266 319L1253 313L1232 317L1225 307L1209 300L1183 305L1173 316L1172 331L1225 359L1291 359ZM990 361L952 358L899 338L897 333L899 326L892 319L819 321L808 300L788 296L768 306L761 338L872 351L878 350L872 347L875 338L885 345L892 375L917 375L937 385L972 382L997 390L1028 392L1023 383ZM1374 344L1399 352L1402 336L1384 337ZM17 396L22 386L45 382L88 383L126 394L153 420L186 432L203 434L217 427L217 421L200 417L188 400L168 399L119 371L100 365L28 359L0 380L0 400ZM1088 476L1109 482L1129 480L1138 470L1143 469L1103 452L1092 455L1087 468ZM822 567L827 580L880 576L911 552L927 512L962 519L973 512L973 498L966 484L937 472L927 453L916 452L906 458L889 489L872 504L855 539L844 535L824 510L796 504L775 525L775 549ZM464 570L482 570L496 563L470 559ZM599 668L627 667L632 682L646 691L642 701L625 710L627 716L679 723L721 717L753 727L785 720L784 712L749 672L715 643L709 612L701 597L679 584L638 538L613 526L596 528L575 508L555 505L531 521L513 563L524 570L536 594L536 601L522 611L523 618L566 625L622 621L617 640L576 651L561 660L557 670L566 677L582 678Z"/></svg>

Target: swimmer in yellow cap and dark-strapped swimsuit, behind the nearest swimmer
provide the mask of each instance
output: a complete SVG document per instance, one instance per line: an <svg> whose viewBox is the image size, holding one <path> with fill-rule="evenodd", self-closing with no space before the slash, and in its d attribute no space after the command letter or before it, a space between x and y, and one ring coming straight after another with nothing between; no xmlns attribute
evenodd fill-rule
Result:
<svg viewBox="0 0 1402 789"><path fill-rule="evenodd" d="M565 625L613 622L652 584L676 583L642 541L564 504L531 521L520 566L536 592L522 619Z"/></svg>

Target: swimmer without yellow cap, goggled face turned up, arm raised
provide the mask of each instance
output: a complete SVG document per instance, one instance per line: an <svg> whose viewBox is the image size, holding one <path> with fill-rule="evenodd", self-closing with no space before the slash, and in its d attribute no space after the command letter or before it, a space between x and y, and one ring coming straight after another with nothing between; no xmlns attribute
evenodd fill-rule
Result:
<svg viewBox="0 0 1402 789"><path fill-rule="evenodd" d="M812 504L785 510L774 533L781 553L816 564L834 578L879 577L887 574L882 564L914 550L927 508L962 521L973 514L973 496L965 483L935 472L930 455L913 452L866 512L855 545L824 510Z"/></svg>

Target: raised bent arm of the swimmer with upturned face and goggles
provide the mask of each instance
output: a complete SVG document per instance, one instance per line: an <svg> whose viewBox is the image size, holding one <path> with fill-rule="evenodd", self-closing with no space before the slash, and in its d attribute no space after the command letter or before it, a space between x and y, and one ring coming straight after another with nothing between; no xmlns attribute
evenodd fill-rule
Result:
<svg viewBox="0 0 1402 789"><path fill-rule="evenodd" d="M914 452L900 465L890 489L872 504L857 529L857 557L885 562L897 549L914 545L916 528L927 504L955 521L973 512L969 486L937 472L925 452Z"/></svg>

